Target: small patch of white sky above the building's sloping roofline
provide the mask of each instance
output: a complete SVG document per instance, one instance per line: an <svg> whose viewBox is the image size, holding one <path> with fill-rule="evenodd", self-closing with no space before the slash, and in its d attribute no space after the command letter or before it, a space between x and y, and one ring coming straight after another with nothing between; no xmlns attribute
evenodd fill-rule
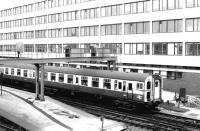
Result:
<svg viewBox="0 0 200 131"><path fill-rule="evenodd" d="M41 0L0 0L0 10L25 5L26 3L34 3Z"/></svg>

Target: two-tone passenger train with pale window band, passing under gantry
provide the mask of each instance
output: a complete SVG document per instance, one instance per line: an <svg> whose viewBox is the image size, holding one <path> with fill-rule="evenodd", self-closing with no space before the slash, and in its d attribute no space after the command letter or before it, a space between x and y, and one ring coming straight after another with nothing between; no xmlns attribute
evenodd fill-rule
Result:
<svg viewBox="0 0 200 131"><path fill-rule="evenodd" d="M35 88L34 66L1 66L3 84ZM110 70L45 66L45 90L92 95L120 104L155 108L162 102L161 76Z"/></svg>

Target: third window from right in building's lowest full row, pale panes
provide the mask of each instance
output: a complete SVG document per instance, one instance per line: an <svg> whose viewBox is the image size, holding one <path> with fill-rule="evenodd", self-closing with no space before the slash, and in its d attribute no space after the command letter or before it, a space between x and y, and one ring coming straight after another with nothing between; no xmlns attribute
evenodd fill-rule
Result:
<svg viewBox="0 0 200 131"><path fill-rule="evenodd" d="M149 43L124 43L124 54L148 55L149 52L150 52Z"/></svg>

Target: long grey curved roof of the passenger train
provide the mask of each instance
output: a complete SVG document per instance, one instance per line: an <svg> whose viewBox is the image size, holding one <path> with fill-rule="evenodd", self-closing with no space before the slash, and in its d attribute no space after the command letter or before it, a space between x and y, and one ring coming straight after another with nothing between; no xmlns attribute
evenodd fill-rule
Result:
<svg viewBox="0 0 200 131"><path fill-rule="evenodd" d="M4 66L6 67L6 66ZM22 68L22 69L34 69L32 65L11 65L8 67L12 68ZM51 67L45 66L45 72L55 72L63 74L74 74L74 75L83 75L83 76L93 76L93 77L102 77L102 78L111 78L111 79L121 79L121 80L130 80L130 81L145 81L149 74L142 73L126 73L119 71L108 71L108 70L94 70L94 69L77 69L69 67Z"/></svg>

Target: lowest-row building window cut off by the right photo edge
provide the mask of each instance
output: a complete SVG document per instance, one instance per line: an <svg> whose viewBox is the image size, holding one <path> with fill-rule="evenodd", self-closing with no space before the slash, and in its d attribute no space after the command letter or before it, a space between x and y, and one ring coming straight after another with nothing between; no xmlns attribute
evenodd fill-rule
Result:
<svg viewBox="0 0 200 131"><path fill-rule="evenodd" d="M186 43L187 56L200 56L200 42L187 42Z"/></svg>

